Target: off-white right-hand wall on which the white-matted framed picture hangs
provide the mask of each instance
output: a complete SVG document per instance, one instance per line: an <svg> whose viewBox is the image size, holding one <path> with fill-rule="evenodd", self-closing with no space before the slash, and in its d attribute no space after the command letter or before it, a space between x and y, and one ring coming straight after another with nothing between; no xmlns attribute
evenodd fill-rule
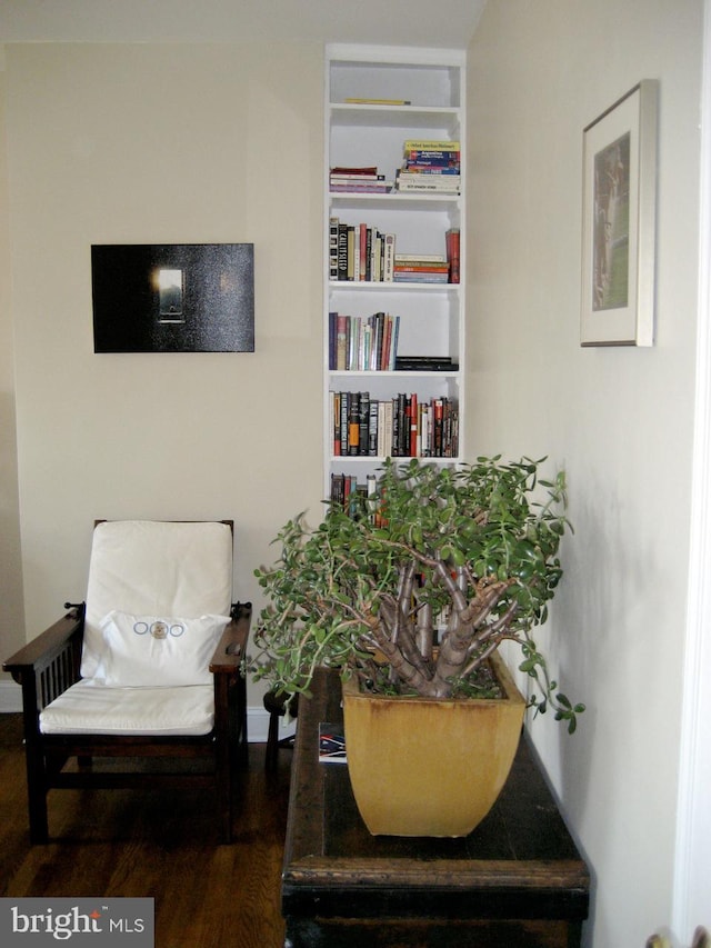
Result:
<svg viewBox="0 0 711 948"><path fill-rule="evenodd" d="M585 701L532 734L593 872L585 944L671 922L697 307L701 0L495 0L470 44L468 443L564 467L540 639ZM579 346L582 129L660 81L657 342ZM700 919L701 921L701 919Z"/></svg>

